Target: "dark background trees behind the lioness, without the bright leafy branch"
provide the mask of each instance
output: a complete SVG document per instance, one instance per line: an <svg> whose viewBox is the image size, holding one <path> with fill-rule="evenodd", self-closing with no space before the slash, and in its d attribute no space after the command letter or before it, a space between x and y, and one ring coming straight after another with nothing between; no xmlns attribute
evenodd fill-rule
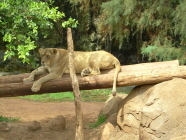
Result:
<svg viewBox="0 0 186 140"><path fill-rule="evenodd" d="M179 59L181 64L186 62L185 0L28 0L26 4L25 0L5 1L14 3L14 9L22 9L32 1L44 2L50 8L58 7L58 10L66 16L56 18L57 20L45 17L47 24L44 25L44 20L37 11L35 11L36 14L33 12L32 16L37 18L33 18L32 21L35 20L38 25L37 29L33 25L38 33L31 36L31 41L34 41L37 48L29 51L32 56L30 59L34 58L33 64L28 65L23 63L21 58L17 58L16 52L19 52L17 46L22 42L14 43L15 54L3 61L4 52L10 50L8 45L11 44L3 39L7 32L4 28L9 28L8 31L13 32L15 30L13 25L17 19L10 20L16 16L15 13L11 15L9 12L13 7L3 8L3 2L0 2L0 26L2 27L0 29L0 70L2 71L25 72L34 69L39 65L37 49L40 47L66 49L66 28L63 28L61 23L69 17L79 22L77 28L73 29L76 51L106 50L115 55L122 65L173 59ZM17 11L17 17L25 11ZM42 12L44 10L40 13ZM24 18L25 16L19 17L21 21ZM39 22L42 20L43 23ZM39 26L41 24L43 25ZM47 25L51 28L47 28ZM28 24L16 30L24 33L27 30L26 26Z"/></svg>

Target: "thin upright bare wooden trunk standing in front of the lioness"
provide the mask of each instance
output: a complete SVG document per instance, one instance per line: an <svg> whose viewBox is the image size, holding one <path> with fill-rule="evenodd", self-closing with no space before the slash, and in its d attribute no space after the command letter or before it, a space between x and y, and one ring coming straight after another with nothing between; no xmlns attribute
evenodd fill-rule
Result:
<svg viewBox="0 0 186 140"><path fill-rule="evenodd" d="M81 109L79 82L74 68L74 45L73 45L71 28L67 29L67 44L68 44L68 51L69 51L70 76L72 79L72 88L74 93L74 99L75 99L74 102L75 102L75 110L76 110L75 140L84 140L83 112Z"/></svg>

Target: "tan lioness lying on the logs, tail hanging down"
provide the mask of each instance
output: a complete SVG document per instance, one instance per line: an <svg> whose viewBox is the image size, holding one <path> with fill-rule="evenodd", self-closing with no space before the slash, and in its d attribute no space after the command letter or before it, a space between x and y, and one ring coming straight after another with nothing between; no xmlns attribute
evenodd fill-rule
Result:
<svg viewBox="0 0 186 140"><path fill-rule="evenodd" d="M35 75L46 74L46 76L35 81L31 90L37 92L41 85L49 80L60 78L63 73L69 73L69 54L65 49L46 48L39 49L41 56L41 67L31 72L23 82L34 81ZM74 67L76 73L81 76L98 75L100 69L116 68L114 74L112 95L116 95L116 80L120 72L120 62L116 57L106 51L74 52Z"/></svg>

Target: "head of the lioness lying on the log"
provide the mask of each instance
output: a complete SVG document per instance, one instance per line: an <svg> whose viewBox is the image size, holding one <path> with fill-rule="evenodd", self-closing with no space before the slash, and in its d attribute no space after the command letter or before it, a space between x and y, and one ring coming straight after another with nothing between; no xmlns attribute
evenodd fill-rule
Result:
<svg viewBox="0 0 186 140"><path fill-rule="evenodd" d="M41 65L49 66L53 63L56 59L55 55L57 53L57 49L55 48L46 48L46 49L39 49L39 54L41 56Z"/></svg>

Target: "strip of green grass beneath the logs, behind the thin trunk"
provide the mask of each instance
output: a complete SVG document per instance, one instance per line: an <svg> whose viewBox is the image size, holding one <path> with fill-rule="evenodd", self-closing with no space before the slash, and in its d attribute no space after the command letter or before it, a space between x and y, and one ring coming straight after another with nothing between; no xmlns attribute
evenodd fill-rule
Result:
<svg viewBox="0 0 186 140"><path fill-rule="evenodd" d="M108 96L112 93L110 89L95 89L95 90L82 90L81 100L84 102L104 102L108 99ZM61 92L61 93L47 93L41 95L28 95L20 96L16 98L28 99L32 101L43 102L60 102L60 101L73 101L73 92Z"/></svg>

